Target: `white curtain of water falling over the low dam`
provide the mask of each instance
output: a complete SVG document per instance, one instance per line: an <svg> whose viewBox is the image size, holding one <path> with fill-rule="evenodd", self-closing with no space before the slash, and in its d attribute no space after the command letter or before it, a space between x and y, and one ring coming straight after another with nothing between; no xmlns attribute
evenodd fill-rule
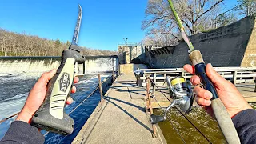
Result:
<svg viewBox="0 0 256 144"><path fill-rule="evenodd" d="M60 62L61 57L0 57L0 74L43 73ZM116 70L117 63L117 56L86 56L86 74Z"/></svg>

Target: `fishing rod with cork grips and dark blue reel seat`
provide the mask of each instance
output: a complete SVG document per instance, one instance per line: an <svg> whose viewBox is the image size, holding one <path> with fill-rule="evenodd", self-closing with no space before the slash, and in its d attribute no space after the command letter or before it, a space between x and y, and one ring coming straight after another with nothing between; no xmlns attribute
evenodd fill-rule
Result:
<svg viewBox="0 0 256 144"><path fill-rule="evenodd" d="M168 0L168 2L170 4L170 8L176 19L176 22L178 23L178 28L181 31L182 38L184 39L187 46L189 47L189 50L188 50L189 58L190 58L190 62L194 66L195 74L197 74L201 78L203 87L206 90L209 90L213 94L213 98L211 99L211 108L214 111L214 116L218 122L218 126L220 127L223 135L226 138L226 142L232 143L232 144L240 143L238 133L234 128L234 124L230 118L230 114L227 112L226 107L223 105L221 99L218 98L218 93L215 90L213 83L210 81L210 79L206 75L206 64L203 61L201 52L199 50L194 50L194 46L190 41L190 38L186 35L185 27L183 26L182 20L179 18L178 13L174 8L173 2L171 0ZM179 83L182 83L182 82L179 82ZM178 99L178 101L180 101L179 103L181 103L183 99L184 98ZM171 105L174 106L175 103ZM168 108L170 109L170 106ZM167 110L169 110L168 108ZM153 120L154 122L158 122L158 121L160 122L164 120L164 118L162 117L155 117L155 116L151 117L150 119Z"/></svg>

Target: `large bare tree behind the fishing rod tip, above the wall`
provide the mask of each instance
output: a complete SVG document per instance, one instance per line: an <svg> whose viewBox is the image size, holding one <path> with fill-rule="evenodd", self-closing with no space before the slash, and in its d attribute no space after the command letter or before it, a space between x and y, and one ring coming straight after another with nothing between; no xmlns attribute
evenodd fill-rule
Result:
<svg viewBox="0 0 256 144"><path fill-rule="evenodd" d="M213 19L222 2L223 0L178 0L174 2L174 7L190 35L214 27ZM142 22L142 30L154 37L164 35L163 38L168 36L178 40L178 26L167 0L149 0L145 13L146 20Z"/></svg>

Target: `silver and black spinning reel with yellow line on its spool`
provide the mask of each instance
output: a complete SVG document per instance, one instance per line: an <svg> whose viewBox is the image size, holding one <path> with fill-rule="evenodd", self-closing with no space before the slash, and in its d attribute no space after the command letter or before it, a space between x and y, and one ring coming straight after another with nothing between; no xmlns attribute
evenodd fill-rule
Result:
<svg viewBox="0 0 256 144"><path fill-rule="evenodd" d="M167 112L175 105L178 105L180 110L185 114L189 114L193 106L194 95L189 81L185 82L185 79L180 76L175 78L170 78L168 76L166 77L166 82L170 88L170 98L174 101L166 108L163 116L154 114L150 115L150 122L152 124L165 121Z"/></svg>

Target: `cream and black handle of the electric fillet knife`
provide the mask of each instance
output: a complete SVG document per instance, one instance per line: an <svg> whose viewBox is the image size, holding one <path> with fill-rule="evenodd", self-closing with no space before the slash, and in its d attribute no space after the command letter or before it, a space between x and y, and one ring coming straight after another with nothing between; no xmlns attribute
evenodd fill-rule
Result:
<svg viewBox="0 0 256 144"><path fill-rule="evenodd" d="M34 114L32 126L58 134L73 132L74 120L64 112L66 98L70 95L74 82L75 59L70 54L71 50L62 52L61 65L47 84L45 101Z"/></svg>

